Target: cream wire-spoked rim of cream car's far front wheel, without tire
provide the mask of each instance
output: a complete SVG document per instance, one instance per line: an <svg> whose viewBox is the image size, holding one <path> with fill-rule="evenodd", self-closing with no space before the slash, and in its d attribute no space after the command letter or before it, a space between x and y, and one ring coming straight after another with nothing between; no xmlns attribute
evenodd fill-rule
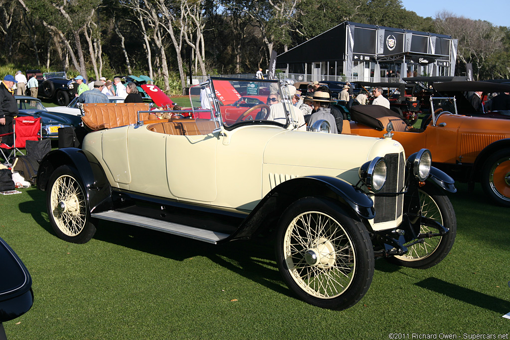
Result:
<svg viewBox="0 0 510 340"><path fill-rule="evenodd" d="M443 216L441 215L441 210L439 209L438 203L427 195L424 191L419 191L420 197L420 205L421 205L421 215L424 217L428 217L439 224L443 225ZM438 230L435 228L428 227L426 225L420 226L420 233L433 232L437 233ZM404 244L407 247L407 253L402 256L396 256L400 259L406 261L418 261L430 256L441 243L442 237L432 237L429 239L422 239L421 242L418 242L412 246L407 246L408 244L414 243L417 240L413 240L407 244Z"/></svg>

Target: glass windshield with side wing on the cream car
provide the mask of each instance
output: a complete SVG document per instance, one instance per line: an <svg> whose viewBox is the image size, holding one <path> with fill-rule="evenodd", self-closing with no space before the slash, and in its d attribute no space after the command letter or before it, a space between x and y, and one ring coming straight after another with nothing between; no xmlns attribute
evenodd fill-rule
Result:
<svg viewBox="0 0 510 340"><path fill-rule="evenodd" d="M196 112L196 117L217 117L225 127L250 123L286 126L289 123L291 103L282 99L276 81L212 78L212 84L190 88L190 100L193 108L207 110Z"/></svg>

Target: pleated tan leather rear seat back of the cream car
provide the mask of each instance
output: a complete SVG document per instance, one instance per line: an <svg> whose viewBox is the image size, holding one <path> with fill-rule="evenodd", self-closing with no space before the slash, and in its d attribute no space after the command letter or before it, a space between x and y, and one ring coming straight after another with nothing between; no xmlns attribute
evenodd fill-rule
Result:
<svg viewBox="0 0 510 340"><path fill-rule="evenodd" d="M135 124L138 111L148 111L148 103L89 103L83 104L83 124L91 130L100 130ZM147 112L140 113L140 120L157 119Z"/></svg>

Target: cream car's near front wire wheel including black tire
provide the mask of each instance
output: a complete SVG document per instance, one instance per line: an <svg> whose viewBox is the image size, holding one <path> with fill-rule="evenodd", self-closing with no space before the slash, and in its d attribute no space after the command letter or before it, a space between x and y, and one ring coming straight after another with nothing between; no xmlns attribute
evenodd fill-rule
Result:
<svg viewBox="0 0 510 340"><path fill-rule="evenodd" d="M278 268L304 301L346 309L367 292L374 271L368 231L333 202L303 198L279 222Z"/></svg>

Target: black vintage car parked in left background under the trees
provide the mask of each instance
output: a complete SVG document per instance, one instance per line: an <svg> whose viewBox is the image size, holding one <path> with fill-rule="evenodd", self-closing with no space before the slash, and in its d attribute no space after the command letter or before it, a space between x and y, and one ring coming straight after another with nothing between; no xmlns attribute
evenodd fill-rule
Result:
<svg viewBox="0 0 510 340"><path fill-rule="evenodd" d="M29 70L27 77L33 73L39 81L38 98L52 99L59 106L66 106L78 91L77 83L73 79L67 79L65 72L41 73L40 70Z"/></svg>

